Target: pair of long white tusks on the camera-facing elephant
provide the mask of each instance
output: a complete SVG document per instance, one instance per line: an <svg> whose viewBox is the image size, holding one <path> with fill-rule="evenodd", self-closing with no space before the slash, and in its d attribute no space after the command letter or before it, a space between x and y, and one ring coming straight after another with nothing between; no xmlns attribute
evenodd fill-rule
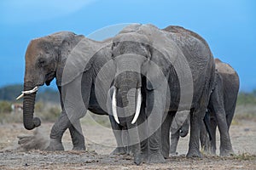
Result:
<svg viewBox="0 0 256 170"><path fill-rule="evenodd" d="M120 124L119 122L119 117L117 114L117 88L114 88L113 90L113 96L112 96L112 111L113 111L113 118L115 120L115 122L117 122L118 124ZM141 92L141 88L137 88L137 105L136 105L136 112L135 115L131 121L131 124L134 124L135 122L137 122L137 118L140 115L140 111L141 111L141 106L142 106L142 92Z"/></svg>

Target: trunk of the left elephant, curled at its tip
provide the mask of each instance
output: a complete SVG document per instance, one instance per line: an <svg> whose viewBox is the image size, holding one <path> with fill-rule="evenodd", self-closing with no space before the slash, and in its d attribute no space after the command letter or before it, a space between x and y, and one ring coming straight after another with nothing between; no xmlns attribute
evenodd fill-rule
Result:
<svg viewBox="0 0 256 170"><path fill-rule="evenodd" d="M32 82L24 83L24 91L31 90L35 86ZM24 94L23 99L23 124L27 130L32 130L34 127L39 127L41 121L38 117L33 117L36 92L33 94Z"/></svg>

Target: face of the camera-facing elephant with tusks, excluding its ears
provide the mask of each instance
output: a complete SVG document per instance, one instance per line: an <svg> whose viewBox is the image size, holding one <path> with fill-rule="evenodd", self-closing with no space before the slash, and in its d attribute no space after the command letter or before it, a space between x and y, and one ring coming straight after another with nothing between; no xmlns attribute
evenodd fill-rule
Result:
<svg viewBox="0 0 256 170"><path fill-rule="evenodd" d="M125 115L122 116L130 117L130 122L134 124L142 105L141 88L143 82L141 75L143 64L150 54L147 43L139 41L148 42L148 39L132 33L120 34L113 39L112 59L116 71L112 100L113 116L118 123L116 106L123 108Z"/></svg>

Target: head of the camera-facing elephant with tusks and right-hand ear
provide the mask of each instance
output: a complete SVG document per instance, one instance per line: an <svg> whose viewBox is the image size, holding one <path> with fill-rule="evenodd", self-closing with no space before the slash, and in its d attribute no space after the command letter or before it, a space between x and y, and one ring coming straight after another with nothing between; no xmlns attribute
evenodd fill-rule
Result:
<svg viewBox="0 0 256 170"><path fill-rule="evenodd" d="M172 65L174 60L179 60L178 55L182 53L176 43L166 35L166 32L155 26L127 26L113 37L112 59L116 69L113 81L116 95L113 95L113 108L116 107L116 101L118 106L127 108L125 111L119 111L119 116L121 112L126 112L125 117L134 117L129 121L135 123L142 102L141 88L147 88L149 91L157 88L167 90L170 73L172 81L177 84L175 88L179 87L175 65ZM168 92L165 90L158 91L158 96L166 96L166 99L170 97L166 95ZM175 99L178 100L178 97ZM117 110L113 110L113 116L116 117L116 122L119 122L115 111Z"/></svg>

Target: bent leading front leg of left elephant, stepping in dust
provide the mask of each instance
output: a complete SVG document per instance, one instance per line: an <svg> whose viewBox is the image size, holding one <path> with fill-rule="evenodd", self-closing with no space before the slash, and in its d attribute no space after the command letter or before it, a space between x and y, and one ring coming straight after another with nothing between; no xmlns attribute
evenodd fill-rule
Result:
<svg viewBox="0 0 256 170"><path fill-rule="evenodd" d="M49 146L46 148L46 150L64 150L61 139L62 139L63 133L65 133L67 128L70 126L71 126L71 123L67 117L66 112L62 111L61 116L58 118L54 126L51 128L50 136L49 136L50 137Z"/></svg>

